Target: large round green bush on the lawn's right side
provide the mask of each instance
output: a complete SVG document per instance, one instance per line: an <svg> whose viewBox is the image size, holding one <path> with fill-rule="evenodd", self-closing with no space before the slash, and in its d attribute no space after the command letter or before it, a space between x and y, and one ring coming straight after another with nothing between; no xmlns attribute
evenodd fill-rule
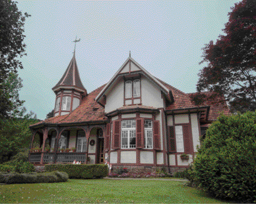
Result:
<svg viewBox="0 0 256 204"><path fill-rule="evenodd" d="M256 203L256 112L221 115L194 161L199 187L215 197Z"/></svg>

